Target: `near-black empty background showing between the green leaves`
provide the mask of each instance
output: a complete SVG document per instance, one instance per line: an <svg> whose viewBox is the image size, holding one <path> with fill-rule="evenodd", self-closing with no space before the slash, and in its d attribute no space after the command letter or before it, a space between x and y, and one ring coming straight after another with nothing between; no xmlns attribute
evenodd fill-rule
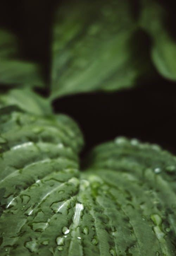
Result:
<svg viewBox="0 0 176 256"><path fill-rule="evenodd" d="M176 39L174 1L158 2L168 13L165 27ZM48 84L52 22L59 4L61 1L56 0L0 3L0 27L17 34L21 58L38 62ZM139 1L132 1L132 9L137 18ZM145 44L149 55L150 40ZM141 77L129 90L72 95L54 101L56 112L70 115L80 125L86 140L83 155L96 144L119 135L157 143L176 154L176 83L161 77L154 67L153 70L150 79ZM38 92L47 96L49 91Z"/></svg>

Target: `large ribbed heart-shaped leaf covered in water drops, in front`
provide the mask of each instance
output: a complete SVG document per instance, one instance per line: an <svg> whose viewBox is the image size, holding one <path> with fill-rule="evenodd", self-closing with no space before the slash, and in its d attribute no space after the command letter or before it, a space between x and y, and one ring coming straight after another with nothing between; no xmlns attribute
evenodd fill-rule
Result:
<svg viewBox="0 0 176 256"><path fill-rule="evenodd" d="M1 255L174 256L176 158L117 138L78 171L66 116L0 112Z"/></svg>

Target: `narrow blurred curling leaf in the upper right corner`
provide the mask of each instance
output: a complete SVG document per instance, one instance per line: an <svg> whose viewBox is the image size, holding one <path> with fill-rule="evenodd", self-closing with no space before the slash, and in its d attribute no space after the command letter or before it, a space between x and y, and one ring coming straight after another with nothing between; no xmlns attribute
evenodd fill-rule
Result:
<svg viewBox="0 0 176 256"><path fill-rule="evenodd" d="M140 24L151 36L151 58L158 72L170 80L176 80L176 41L164 25L166 11L155 1L142 1Z"/></svg>

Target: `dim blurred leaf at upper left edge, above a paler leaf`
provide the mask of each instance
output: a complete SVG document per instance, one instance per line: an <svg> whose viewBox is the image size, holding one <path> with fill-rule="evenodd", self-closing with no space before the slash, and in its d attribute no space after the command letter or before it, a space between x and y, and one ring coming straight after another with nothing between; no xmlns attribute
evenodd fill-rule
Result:
<svg viewBox="0 0 176 256"><path fill-rule="evenodd" d="M38 64L20 59L19 42L17 38L0 29L0 83L6 85L42 86L43 81Z"/></svg>

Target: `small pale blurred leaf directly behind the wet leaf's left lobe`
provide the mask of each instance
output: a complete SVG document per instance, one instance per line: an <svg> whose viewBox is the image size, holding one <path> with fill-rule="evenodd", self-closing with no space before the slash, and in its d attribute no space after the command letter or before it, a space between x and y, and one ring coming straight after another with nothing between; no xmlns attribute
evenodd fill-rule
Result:
<svg viewBox="0 0 176 256"><path fill-rule="evenodd" d="M34 93L31 88L11 89L0 95L0 105L17 105L26 112L36 115L52 114L50 101Z"/></svg>

